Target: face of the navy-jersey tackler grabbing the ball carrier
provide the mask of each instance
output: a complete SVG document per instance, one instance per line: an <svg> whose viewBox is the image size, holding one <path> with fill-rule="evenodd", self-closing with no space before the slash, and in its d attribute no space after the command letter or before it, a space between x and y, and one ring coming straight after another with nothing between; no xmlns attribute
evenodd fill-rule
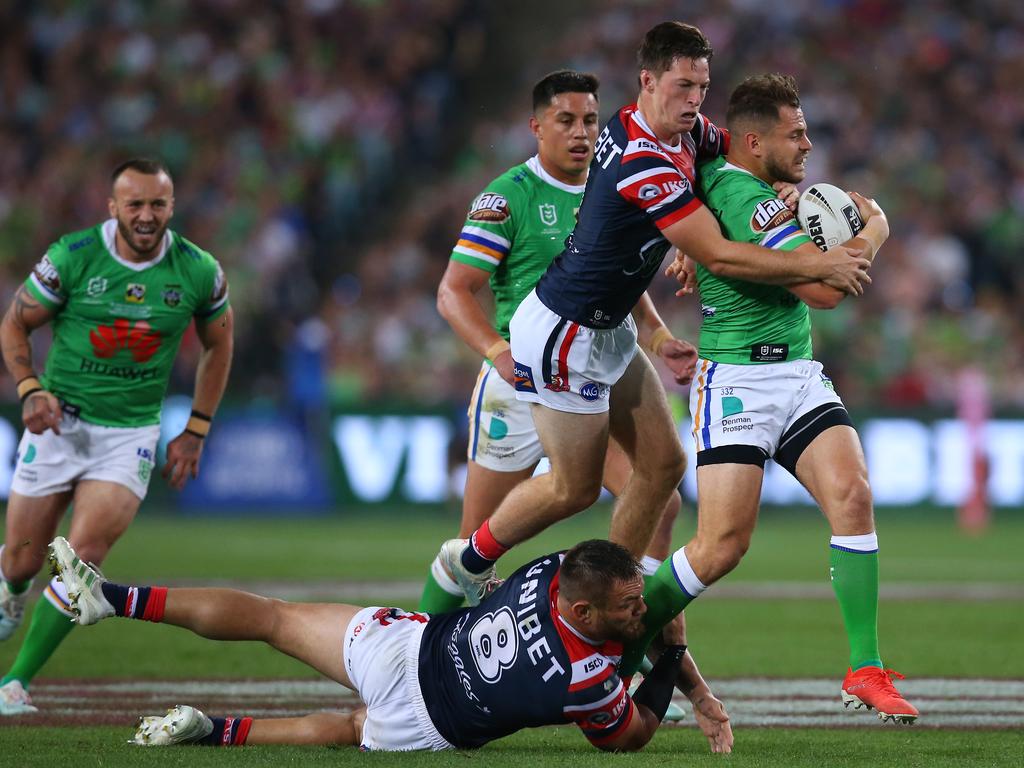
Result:
<svg viewBox="0 0 1024 768"><path fill-rule="evenodd" d="M675 144L679 134L693 130L710 87L707 58L677 58L657 75L641 71L641 109L657 137Z"/></svg>

